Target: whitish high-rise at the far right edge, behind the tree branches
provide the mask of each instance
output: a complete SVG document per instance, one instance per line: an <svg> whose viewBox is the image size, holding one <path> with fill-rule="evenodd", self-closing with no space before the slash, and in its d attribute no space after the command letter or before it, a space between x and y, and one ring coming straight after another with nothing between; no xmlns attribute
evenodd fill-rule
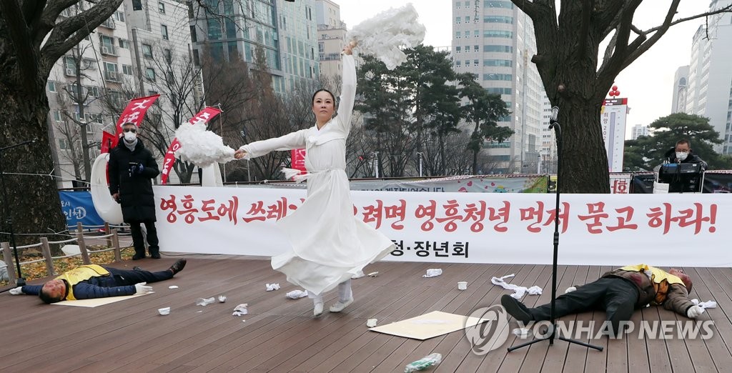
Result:
<svg viewBox="0 0 732 373"><path fill-rule="evenodd" d="M732 4L712 0L709 10ZM732 154L732 13L709 16L692 41L686 113L709 118L723 143L714 145L722 154Z"/></svg>

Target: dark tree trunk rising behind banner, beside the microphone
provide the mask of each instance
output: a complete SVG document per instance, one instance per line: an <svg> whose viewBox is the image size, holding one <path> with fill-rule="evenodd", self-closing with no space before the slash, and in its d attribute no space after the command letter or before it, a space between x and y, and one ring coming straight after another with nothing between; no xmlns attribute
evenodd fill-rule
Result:
<svg viewBox="0 0 732 373"><path fill-rule="evenodd" d="M600 126L601 102L559 102L562 148L559 154L562 193L610 193L608 154ZM600 165L600 167L598 167Z"/></svg>

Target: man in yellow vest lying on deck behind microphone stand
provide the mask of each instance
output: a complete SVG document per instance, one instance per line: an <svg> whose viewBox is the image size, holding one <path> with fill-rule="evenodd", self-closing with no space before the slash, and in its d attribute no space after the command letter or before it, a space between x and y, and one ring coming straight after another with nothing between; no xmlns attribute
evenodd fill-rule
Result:
<svg viewBox="0 0 732 373"><path fill-rule="evenodd" d="M612 326L610 333L617 335L621 321L629 321L635 309L648 304L695 318L703 309L689 300L691 279L684 271L671 268L668 272L650 265L627 265L603 274L589 284L569 287L563 295L556 297L555 317L567 314L602 310ZM506 312L523 323L550 320L551 304L536 308L506 294L501 297Z"/></svg>

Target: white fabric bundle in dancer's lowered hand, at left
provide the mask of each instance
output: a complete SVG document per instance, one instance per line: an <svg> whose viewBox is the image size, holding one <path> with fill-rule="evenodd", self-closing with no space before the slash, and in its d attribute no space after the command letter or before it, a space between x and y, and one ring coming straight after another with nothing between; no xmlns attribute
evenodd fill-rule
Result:
<svg viewBox="0 0 732 373"><path fill-rule="evenodd" d="M234 160L234 149L225 146L221 136L206 131L206 123L184 123L176 129L176 138L181 147L176 151L177 158L193 162L198 167Z"/></svg>

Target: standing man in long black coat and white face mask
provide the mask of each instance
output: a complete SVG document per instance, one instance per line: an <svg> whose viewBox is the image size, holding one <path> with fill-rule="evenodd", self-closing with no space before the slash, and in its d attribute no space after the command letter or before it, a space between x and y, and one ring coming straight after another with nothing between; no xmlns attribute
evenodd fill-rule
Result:
<svg viewBox="0 0 732 373"><path fill-rule="evenodd" d="M122 204L122 217L130 225L135 256L132 260L145 257L145 241L141 224L147 230L150 256L160 259L155 230L155 199L152 179L160 171L152 153L137 137L138 127L134 123L122 124L124 137L109 154L109 191L117 203Z"/></svg>

